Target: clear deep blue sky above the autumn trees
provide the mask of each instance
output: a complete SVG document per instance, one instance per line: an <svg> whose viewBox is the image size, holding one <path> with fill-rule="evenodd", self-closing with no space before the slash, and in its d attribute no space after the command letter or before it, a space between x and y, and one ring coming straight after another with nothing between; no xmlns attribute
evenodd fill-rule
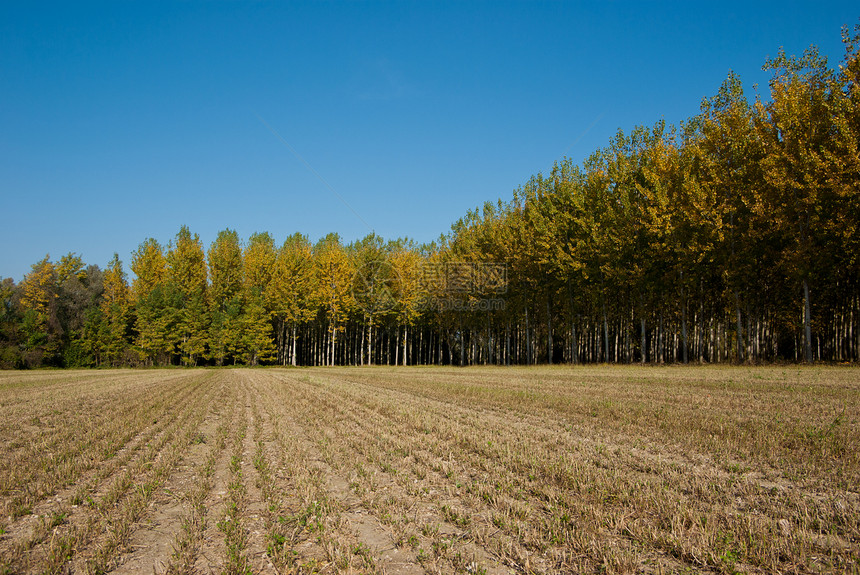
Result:
<svg viewBox="0 0 860 575"><path fill-rule="evenodd" d="M690 117L729 70L766 93L781 46L835 65L858 16L854 2L3 2L0 276L70 251L128 270L183 224L207 249L225 228L430 241L619 128Z"/></svg>

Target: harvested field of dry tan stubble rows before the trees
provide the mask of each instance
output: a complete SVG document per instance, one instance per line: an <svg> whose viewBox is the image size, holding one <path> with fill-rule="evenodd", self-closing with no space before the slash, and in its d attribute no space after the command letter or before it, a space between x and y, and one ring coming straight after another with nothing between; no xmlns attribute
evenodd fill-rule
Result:
<svg viewBox="0 0 860 575"><path fill-rule="evenodd" d="M858 572L858 375L0 372L0 573Z"/></svg>

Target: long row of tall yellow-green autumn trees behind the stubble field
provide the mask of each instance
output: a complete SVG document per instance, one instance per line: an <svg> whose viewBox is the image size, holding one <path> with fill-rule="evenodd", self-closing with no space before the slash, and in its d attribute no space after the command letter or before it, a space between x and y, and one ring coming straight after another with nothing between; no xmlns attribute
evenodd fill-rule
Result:
<svg viewBox="0 0 860 575"><path fill-rule="evenodd" d="M0 282L0 365L860 358L860 27L832 68L729 74L680 126L557 162L438 241L183 227L129 280L70 253Z"/></svg>

